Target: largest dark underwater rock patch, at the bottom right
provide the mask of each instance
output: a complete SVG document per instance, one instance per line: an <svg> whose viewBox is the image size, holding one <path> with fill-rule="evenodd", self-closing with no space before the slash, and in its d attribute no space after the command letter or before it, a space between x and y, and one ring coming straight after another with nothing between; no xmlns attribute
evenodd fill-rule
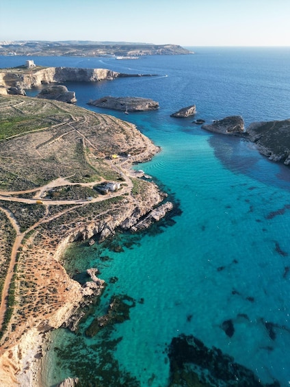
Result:
<svg viewBox="0 0 290 387"><path fill-rule="evenodd" d="M192 335L172 338L168 357L169 387L280 387L276 381L263 384L250 369L235 363L218 348L209 349Z"/></svg>

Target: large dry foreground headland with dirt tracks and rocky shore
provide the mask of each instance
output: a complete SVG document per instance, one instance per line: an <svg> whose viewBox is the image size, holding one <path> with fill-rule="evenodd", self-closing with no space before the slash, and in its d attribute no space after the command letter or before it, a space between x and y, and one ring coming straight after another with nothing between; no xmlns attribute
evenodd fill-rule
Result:
<svg viewBox="0 0 290 387"><path fill-rule="evenodd" d="M159 151L135 125L21 95L0 95L0 114L0 384L34 387L46 332L103 289L96 269L83 286L67 275L66 245L144 229L172 203L131 169Z"/></svg>

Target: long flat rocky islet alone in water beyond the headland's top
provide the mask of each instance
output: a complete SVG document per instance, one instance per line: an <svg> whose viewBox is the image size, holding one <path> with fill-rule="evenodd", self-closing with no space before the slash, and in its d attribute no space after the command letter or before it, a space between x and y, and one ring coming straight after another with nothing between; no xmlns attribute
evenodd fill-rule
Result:
<svg viewBox="0 0 290 387"><path fill-rule="evenodd" d="M141 97L103 97L90 101L89 105L97 106L98 108L107 108L120 110L121 112L146 112L159 108L159 103L153 99Z"/></svg>

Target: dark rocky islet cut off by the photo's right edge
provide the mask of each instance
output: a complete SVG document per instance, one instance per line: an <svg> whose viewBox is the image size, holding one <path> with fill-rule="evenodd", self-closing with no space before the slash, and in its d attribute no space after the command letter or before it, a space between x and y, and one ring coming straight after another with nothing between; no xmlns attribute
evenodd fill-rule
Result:
<svg viewBox="0 0 290 387"><path fill-rule="evenodd" d="M290 119L252 123L246 132L269 160L290 164Z"/></svg>

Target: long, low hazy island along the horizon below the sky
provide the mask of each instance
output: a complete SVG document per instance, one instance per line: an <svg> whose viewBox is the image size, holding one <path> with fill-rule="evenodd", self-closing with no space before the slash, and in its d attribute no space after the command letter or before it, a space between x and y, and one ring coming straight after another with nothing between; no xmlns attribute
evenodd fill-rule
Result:
<svg viewBox="0 0 290 387"><path fill-rule="evenodd" d="M81 40L16 40L0 42L0 55L88 56L137 58L144 55L188 55L194 53L179 45L150 45L127 42L90 42Z"/></svg>

